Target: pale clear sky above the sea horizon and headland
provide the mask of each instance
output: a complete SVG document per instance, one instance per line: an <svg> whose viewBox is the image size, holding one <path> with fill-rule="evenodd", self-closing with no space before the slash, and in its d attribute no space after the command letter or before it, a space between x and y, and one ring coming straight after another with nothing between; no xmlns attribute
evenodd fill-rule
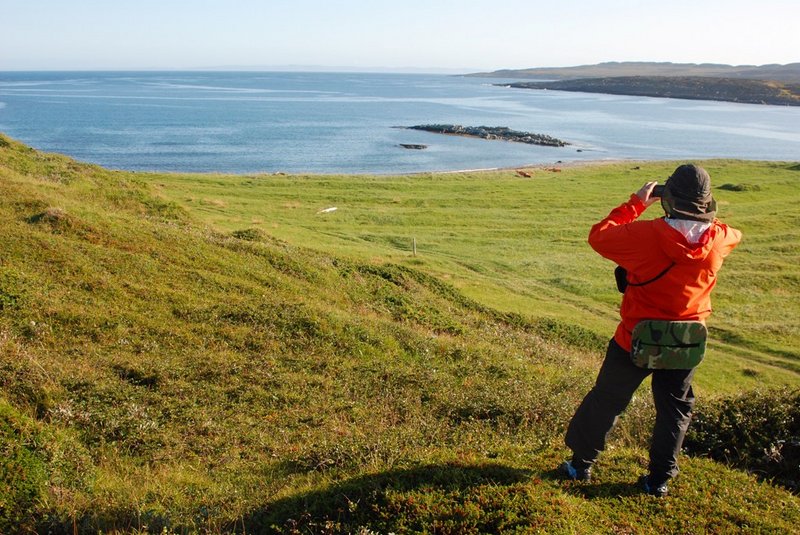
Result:
<svg viewBox="0 0 800 535"><path fill-rule="evenodd" d="M0 0L0 71L800 62L798 0Z"/></svg>

